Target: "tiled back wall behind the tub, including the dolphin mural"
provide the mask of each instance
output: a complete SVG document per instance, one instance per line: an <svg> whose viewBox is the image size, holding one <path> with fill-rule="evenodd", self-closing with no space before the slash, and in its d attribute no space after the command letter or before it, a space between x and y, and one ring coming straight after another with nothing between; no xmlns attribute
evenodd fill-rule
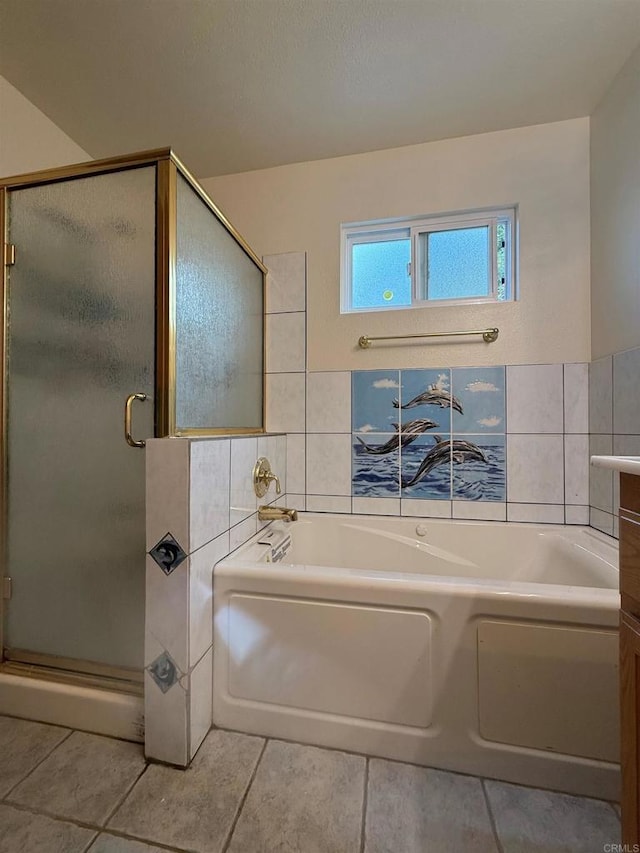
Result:
<svg viewBox="0 0 640 853"><path fill-rule="evenodd" d="M588 524L587 364L305 372L305 255L264 260L267 426L288 434L292 505Z"/></svg>

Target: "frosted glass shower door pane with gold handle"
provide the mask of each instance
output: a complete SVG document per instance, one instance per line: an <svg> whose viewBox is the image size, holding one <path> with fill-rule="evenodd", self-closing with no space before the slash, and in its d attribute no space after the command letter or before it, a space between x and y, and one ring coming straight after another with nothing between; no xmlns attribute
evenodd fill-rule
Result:
<svg viewBox="0 0 640 853"><path fill-rule="evenodd" d="M9 195L4 644L143 664L145 452L153 436L156 168ZM82 667L79 666L79 669Z"/></svg>

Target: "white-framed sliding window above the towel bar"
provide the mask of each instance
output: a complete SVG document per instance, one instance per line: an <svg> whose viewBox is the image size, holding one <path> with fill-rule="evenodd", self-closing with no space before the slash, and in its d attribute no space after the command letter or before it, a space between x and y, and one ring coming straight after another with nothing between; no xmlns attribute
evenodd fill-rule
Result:
<svg viewBox="0 0 640 853"><path fill-rule="evenodd" d="M341 231L343 313L515 298L515 208Z"/></svg>

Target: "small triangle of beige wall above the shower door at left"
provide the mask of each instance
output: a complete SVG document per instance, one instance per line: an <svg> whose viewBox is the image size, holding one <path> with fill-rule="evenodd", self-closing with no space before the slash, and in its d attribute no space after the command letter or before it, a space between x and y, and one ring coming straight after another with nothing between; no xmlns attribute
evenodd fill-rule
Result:
<svg viewBox="0 0 640 853"><path fill-rule="evenodd" d="M84 160L86 151L0 77L0 177Z"/></svg>

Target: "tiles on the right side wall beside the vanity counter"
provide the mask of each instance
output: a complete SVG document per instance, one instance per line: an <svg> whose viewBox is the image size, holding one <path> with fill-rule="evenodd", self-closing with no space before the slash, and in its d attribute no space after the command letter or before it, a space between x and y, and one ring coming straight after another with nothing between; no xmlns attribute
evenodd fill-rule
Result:
<svg viewBox="0 0 640 853"><path fill-rule="evenodd" d="M597 359L589 370L589 454L640 456L640 348ZM591 466L590 523L618 536L619 475Z"/></svg>

